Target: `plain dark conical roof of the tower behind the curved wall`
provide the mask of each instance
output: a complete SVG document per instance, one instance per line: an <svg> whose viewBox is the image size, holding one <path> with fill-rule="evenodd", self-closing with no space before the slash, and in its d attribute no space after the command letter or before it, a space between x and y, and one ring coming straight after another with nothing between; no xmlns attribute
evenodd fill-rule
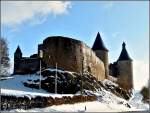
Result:
<svg viewBox="0 0 150 113"><path fill-rule="evenodd" d="M93 44L92 50L104 50L104 51L108 51L108 49L105 47L103 40L100 36L100 33L97 33L95 42Z"/></svg>

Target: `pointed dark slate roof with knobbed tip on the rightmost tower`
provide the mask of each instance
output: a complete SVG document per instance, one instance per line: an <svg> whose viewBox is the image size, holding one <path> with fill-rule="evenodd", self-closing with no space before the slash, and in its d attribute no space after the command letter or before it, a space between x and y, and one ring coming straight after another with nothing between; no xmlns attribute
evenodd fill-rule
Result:
<svg viewBox="0 0 150 113"><path fill-rule="evenodd" d="M132 61L132 59L130 58L130 56L126 50L126 44L124 42L122 44L122 51L121 51L120 56L118 58L118 61L122 61L122 60L131 60Z"/></svg>

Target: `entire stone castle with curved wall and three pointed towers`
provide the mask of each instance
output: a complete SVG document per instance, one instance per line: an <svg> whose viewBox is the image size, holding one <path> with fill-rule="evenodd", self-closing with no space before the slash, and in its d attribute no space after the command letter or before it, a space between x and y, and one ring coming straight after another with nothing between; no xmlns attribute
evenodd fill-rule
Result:
<svg viewBox="0 0 150 113"><path fill-rule="evenodd" d="M40 54L42 52L42 58ZM68 37L52 36L38 45L37 54L23 57L18 46L14 53L14 74L31 74L42 68L58 68L77 73L89 72L98 80L110 79L120 87L130 90L133 88L132 59L123 42L118 60L108 63L108 49L98 32L93 47L90 48L82 41Z"/></svg>

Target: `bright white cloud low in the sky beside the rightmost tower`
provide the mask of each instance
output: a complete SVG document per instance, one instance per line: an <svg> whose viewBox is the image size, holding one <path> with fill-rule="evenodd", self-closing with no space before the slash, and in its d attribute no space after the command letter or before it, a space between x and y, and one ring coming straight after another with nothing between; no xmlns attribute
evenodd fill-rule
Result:
<svg viewBox="0 0 150 113"><path fill-rule="evenodd" d="M147 86L149 80L149 63L144 61L133 61L134 88L140 90Z"/></svg>

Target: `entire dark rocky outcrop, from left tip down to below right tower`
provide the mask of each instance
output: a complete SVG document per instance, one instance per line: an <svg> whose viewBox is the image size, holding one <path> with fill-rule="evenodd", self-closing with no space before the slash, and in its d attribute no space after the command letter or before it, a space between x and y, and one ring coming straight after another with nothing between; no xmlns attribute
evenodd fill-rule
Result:
<svg viewBox="0 0 150 113"><path fill-rule="evenodd" d="M47 69L42 72L44 79L41 81L41 88L50 92L55 92L55 69ZM38 80L28 80L24 82L24 85L31 88L39 88ZM69 71L57 71L57 93L59 94L76 94L80 91L85 93L85 90L97 91L105 89L111 93L117 95L118 97L124 98L126 100L130 99L132 93L124 90L118 84L105 79L104 81L98 81L90 73L84 73L80 75L75 72ZM85 93L86 94L86 93Z"/></svg>

